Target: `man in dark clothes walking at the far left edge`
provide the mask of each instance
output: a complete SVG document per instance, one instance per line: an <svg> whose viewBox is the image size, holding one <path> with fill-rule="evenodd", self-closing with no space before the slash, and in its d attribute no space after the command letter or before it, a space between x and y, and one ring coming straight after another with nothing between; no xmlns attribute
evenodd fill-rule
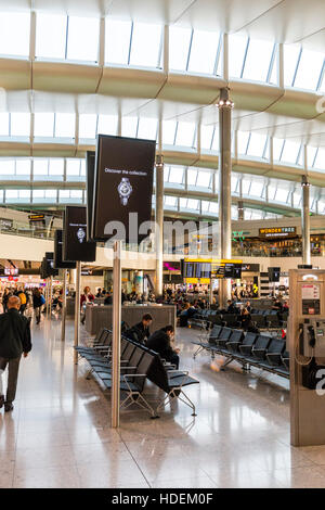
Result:
<svg viewBox="0 0 325 510"><path fill-rule="evenodd" d="M4 404L5 412L13 410L22 354L26 358L31 350L29 321L20 314L20 308L21 299L11 296L8 301L8 313L0 316L0 408ZM6 366L8 388L4 399L2 373Z"/></svg>

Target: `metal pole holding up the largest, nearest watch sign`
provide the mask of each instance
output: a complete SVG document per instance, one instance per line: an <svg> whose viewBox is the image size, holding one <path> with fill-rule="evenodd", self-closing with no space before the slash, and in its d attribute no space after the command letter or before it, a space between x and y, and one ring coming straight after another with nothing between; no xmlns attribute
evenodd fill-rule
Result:
<svg viewBox="0 0 325 510"><path fill-rule="evenodd" d="M120 321L121 321L121 242L114 242L113 260L113 365L112 365L112 428L119 426L120 393Z"/></svg>

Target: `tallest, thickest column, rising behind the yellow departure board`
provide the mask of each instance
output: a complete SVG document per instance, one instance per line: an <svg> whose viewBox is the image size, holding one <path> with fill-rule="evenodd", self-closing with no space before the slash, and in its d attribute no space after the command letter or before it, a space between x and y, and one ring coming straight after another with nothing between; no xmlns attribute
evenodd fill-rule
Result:
<svg viewBox="0 0 325 510"><path fill-rule="evenodd" d="M234 104L229 98L229 88L220 90L219 107L219 222L221 258L232 256L232 109ZM219 302L224 307L231 296L231 281L220 280Z"/></svg>

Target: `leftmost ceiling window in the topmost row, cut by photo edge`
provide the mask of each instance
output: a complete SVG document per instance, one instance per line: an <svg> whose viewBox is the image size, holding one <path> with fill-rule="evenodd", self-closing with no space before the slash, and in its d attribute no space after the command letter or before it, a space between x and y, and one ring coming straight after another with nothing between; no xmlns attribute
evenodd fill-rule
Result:
<svg viewBox="0 0 325 510"><path fill-rule="evenodd" d="M5 12L0 14L0 54L29 55L30 14Z"/></svg>

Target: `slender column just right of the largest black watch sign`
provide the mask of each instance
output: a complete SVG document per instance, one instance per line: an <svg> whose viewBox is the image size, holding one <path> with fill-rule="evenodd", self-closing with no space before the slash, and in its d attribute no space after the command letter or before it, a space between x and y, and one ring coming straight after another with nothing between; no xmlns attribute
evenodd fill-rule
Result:
<svg viewBox="0 0 325 510"><path fill-rule="evenodd" d="M156 295L162 294L164 266L164 157L156 156Z"/></svg>

